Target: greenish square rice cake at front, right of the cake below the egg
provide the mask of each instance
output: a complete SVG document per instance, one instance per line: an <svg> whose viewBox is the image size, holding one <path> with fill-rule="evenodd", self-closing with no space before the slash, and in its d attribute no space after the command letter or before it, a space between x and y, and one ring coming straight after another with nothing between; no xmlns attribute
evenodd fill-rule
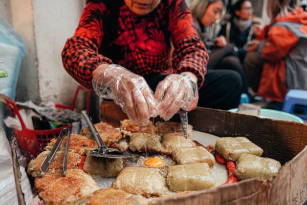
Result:
<svg viewBox="0 0 307 205"><path fill-rule="evenodd" d="M174 192L210 189L215 185L207 163L170 166L166 181L169 189Z"/></svg>

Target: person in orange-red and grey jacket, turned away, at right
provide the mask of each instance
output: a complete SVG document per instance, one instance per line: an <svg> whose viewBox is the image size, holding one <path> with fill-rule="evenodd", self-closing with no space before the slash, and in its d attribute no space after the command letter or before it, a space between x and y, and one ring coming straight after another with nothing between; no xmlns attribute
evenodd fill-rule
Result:
<svg viewBox="0 0 307 205"><path fill-rule="evenodd" d="M269 0L267 13L265 39L248 48L244 69L257 95L281 102L289 89L307 89L307 12L297 0Z"/></svg>

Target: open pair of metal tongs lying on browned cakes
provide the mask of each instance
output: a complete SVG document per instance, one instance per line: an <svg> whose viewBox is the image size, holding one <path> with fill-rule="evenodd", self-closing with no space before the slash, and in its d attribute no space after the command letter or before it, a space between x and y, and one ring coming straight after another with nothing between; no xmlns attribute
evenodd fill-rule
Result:
<svg viewBox="0 0 307 205"><path fill-rule="evenodd" d="M65 152L64 152L64 159L63 159L63 175L66 176L66 170L67 170L67 154L68 154L68 146L69 146L69 139L70 139L70 130L68 128L64 128L61 130L55 144L53 145L49 155L43 160L43 162L40 165L40 173L41 175L44 175L49 166L52 162L57 150L59 149L61 142L63 141L64 137L67 136L66 139L66 145L65 145Z"/></svg>

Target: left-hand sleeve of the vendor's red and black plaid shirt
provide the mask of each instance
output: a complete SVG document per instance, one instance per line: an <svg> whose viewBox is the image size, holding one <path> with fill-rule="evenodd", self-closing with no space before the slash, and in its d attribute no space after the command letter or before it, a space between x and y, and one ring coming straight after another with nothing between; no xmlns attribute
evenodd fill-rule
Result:
<svg viewBox="0 0 307 205"><path fill-rule="evenodd" d="M103 4L87 3L75 35L62 51L65 70L86 88L92 87L92 72L99 65L112 64L111 59L98 53L103 37L102 12L106 12Z"/></svg>

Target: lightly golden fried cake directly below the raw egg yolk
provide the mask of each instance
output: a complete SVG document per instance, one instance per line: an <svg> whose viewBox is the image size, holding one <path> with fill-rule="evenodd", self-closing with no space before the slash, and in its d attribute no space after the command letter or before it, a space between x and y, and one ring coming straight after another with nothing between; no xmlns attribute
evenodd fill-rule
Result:
<svg viewBox="0 0 307 205"><path fill-rule="evenodd" d="M165 179L155 169L126 167L113 182L113 188L144 197L164 196L168 193Z"/></svg>

